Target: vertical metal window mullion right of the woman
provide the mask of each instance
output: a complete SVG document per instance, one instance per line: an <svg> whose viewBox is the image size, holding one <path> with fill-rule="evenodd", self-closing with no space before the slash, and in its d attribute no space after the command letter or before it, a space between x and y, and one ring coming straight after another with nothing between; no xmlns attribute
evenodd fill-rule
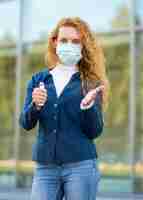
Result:
<svg viewBox="0 0 143 200"><path fill-rule="evenodd" d="M130 86L129 86L129 164L132 192L134 191L135 134L136 134L136 32L135 1L130 0Z"/></svg>

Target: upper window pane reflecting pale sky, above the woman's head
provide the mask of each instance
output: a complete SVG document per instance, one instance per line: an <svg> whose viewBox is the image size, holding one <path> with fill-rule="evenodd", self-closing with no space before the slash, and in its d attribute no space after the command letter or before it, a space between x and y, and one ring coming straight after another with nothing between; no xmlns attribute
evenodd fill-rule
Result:
<svg viewBox="0 0 143 200"><path fill-rule="evenodd" d="M28 31L25 32L30 39L39 39L47 36L61 17L79 16L86 20L95 31L107 31L112 28L124 28L129 25L128 1L83 1L82 0L32 0L27 1L26 15L29 13ZM31 11L30 7L31 6ZM28 9L28 11L27 11ZM31 25L30 25L31 23ZM26 23L25 23L26 25Z"/></svg>

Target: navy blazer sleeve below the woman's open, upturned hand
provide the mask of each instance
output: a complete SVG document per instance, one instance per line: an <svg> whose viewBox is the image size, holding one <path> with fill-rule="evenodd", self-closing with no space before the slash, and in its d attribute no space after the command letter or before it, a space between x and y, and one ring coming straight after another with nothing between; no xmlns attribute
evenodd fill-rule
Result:
<svg viewBox="0 0 143 200"><path fill-rule="evenodd" d="M89 139L99 137L103 131L102 92L98 92L94 103L88 109L81 110L81 128Z"/></svg>

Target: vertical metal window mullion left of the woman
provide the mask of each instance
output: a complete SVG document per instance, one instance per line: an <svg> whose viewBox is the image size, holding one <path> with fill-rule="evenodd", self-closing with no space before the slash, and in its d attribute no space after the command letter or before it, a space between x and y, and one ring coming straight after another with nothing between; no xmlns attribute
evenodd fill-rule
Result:
<svg viewBox="0 0 143 200"><path fill-rule="evenodd" d="M18 23L18 40L16 44L16 106L15 106L15 137L14 137L14 159L15 159L15 186L17 186L18 174L17 166L19 160L19 145L20 145L20 127L19 127L19 114L20 114L20 96L21 96L21 68L22 68L22 48L23 48L23 2L18 1L19 6L19 23Z"/></svg>

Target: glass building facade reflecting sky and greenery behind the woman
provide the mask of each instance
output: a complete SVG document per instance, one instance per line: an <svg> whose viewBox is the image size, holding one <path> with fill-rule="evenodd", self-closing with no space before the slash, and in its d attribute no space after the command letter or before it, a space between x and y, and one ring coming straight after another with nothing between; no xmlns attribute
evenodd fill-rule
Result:
<svg viewBox="0 0 143 200"><path fill-rule="evenodd" d="M111 84L94 142L100 192L143 193L143 1L0 0L0 187L30 187L35 129L18 116L31 75L45 67L48 33L64 16L86 20L102 43Z"/></svg>

